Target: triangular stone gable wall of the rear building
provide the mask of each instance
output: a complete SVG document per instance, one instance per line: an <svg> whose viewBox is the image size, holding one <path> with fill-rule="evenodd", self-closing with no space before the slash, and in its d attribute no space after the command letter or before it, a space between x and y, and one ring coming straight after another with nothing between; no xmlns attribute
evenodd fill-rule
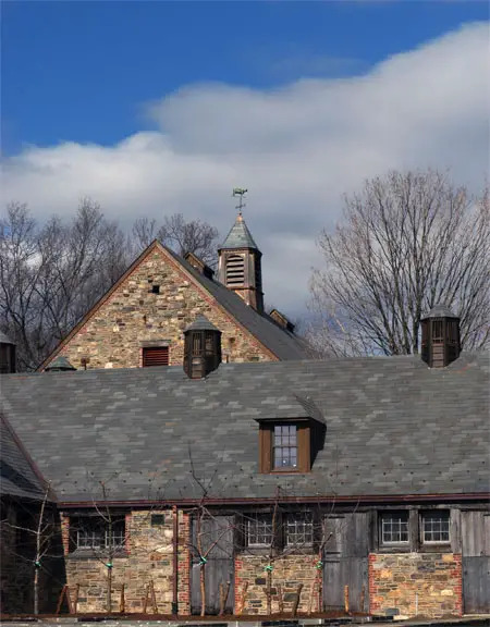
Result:
<svg viewBox="0 0 490 627"><path fill-rule="evenodd" d="M154 285L159 286L158 294L152 292ZM137 368L142 344L158 342L169 346L170 365L181 365L183 331L198 315L222 332L223 361L274 359L159 246L148 250L60 355L77 369L87 357L87 368Z"/></svg>

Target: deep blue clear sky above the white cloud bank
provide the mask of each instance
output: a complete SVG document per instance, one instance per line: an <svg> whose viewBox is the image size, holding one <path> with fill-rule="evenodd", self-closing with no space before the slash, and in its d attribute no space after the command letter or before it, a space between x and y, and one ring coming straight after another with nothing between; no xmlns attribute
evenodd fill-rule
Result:
<svg viewBox="0 0 490 627"><path fill-rule="evenodd" d="M142 103L196 82L250 87L365 73L487 2L45 2L2 4L3 152L117 142Z"/></svg>

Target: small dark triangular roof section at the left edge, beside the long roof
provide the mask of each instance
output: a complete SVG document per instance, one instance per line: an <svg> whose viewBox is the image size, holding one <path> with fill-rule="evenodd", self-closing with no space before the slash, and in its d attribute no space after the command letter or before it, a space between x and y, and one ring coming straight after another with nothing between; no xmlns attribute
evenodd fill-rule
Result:
<svg viewBox="0 0 490 627"><path fill-rule="evenodd" d="M12 429L0 414L0 494L42 499L44 487Z"/></svg>

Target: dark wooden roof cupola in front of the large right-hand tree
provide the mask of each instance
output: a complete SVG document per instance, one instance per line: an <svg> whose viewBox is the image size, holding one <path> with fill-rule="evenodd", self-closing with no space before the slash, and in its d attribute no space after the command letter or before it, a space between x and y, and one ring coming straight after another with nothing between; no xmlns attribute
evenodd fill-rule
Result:
<svg viewBox="0 0 490 627"><path fill-rule="evenodd" d="M444 368L460 357L460 318L436 305L421 320L421 358L429 368Z"/></svg>

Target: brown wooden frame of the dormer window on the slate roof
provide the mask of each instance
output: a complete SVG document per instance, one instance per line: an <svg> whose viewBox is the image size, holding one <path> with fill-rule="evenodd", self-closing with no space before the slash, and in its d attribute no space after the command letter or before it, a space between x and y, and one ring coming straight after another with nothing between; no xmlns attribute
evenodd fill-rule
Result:
<svg viewBox="0 0 490 627"><path fill-rule="evenodd" d="M297 433L296 468L273 467L273 432L279 425L295 425ZM259 471L262 474L304 474L311 470L311 425L308 420L273 420L259 425Z"/></svg>

